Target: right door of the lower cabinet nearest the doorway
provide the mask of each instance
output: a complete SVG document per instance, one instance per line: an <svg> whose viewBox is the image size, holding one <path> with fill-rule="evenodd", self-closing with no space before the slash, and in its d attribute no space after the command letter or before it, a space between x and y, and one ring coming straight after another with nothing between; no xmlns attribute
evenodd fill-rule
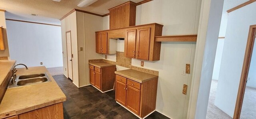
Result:
<svg viewBox="0 0 256 119"><path fill-rule="evenodd" d="M126 107L136 114L140 114L140 90L127 85Z"/></svg>

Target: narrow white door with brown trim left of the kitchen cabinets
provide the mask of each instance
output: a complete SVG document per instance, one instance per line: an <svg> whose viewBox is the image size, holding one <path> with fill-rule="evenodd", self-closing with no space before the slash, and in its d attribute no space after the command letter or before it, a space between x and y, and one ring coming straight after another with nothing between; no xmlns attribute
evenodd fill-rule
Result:
<svg viewBox="0 0 256 119"><path fill-rule="evenodd" d="M73 80L73 69L72 69L72 49L71 49L71 33L66 32L67 40L67 56L68 56L68 77Z"/></svg>

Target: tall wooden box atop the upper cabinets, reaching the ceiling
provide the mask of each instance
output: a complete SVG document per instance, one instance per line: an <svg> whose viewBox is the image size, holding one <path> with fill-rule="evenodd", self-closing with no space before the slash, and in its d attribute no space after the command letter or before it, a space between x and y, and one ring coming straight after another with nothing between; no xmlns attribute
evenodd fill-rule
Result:
<svg viewBox="0 0 256 119"><path fill-rule="evenodd" d="M135 26L136 3L128 1L109 9L110 29Z"/></svg>

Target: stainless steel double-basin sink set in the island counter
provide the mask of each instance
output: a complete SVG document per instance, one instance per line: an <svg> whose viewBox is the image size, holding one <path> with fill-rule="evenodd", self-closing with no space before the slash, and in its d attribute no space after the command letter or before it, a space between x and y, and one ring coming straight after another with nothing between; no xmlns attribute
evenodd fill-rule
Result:
<svg viewBox="0 0 256 119"><path fill-rule="evenodd" d="M46 73L35 73L35 74L26 74L26 75L17 75L15 83L9 83L8 88L12 87L21 87L25 85L32 85L44 82L50 82L51 79Z"/></svg>

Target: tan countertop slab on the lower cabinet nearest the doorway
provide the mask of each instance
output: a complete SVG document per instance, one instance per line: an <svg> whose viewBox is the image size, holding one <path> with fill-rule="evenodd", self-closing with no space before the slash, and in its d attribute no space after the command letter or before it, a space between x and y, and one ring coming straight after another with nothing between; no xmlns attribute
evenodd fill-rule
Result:
<svg viewBox="0 0 256 119"><path fill-rule="evenodd" d="M152 74L149 74L149 73L144 73L144 72L136 71L136 70L133 70L133 69L115 71L115 73L117 75L121 75L123 77L126 77L128 79L132 79L132 80L137 81L139 83L143 83L143 82L149 81L151 79L158 78L157 75L152 75Z"/></svg>

